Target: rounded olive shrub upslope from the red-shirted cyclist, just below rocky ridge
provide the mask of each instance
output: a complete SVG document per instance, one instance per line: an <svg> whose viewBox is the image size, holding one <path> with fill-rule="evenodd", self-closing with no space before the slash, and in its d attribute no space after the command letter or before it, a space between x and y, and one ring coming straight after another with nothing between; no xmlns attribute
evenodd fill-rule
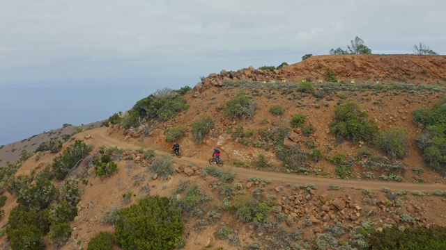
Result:
<svg viewBox="0 0 446 250"><path fill-rule="evenodd" d="M224 111L231 118L252 119L256 111L256 103L246 97L245 92L240 91L236 97L226 102Z"/></svg>

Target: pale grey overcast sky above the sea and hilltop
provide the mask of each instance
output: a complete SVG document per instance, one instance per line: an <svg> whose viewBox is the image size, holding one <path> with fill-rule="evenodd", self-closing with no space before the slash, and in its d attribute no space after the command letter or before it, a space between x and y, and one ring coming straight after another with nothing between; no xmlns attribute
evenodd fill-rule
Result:
<svg viewBox="0 0 446 250"><path fill-rule="evenodd" d="M444 55L445 24L444 0L0 0L0 86L193 87L221 69L346 49L355 36L372 53L422 42Z"/></svg>

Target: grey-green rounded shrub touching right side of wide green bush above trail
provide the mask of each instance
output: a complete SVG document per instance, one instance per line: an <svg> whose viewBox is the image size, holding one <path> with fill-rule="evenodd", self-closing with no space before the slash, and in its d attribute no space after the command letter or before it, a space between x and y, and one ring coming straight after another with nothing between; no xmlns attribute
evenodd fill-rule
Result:
<svg viewBox="0 0 446 250"><path fill-rule="evenodd" d="M378 145L381 150L393 158L404 158L408 155L408 135L401 128L392 128L390 131L378 135Z"/></svg>

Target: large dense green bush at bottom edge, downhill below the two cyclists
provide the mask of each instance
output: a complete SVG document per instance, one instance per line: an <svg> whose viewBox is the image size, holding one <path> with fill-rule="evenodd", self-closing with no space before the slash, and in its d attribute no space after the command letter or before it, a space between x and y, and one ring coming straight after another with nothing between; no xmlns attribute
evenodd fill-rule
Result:
<svg viewBox="0 0 446 250"><path fill-rule="evenodd" d="M146 197L119 210L115 240L124 249L174 249L183 246L180 211L166 197Z"/></svg>

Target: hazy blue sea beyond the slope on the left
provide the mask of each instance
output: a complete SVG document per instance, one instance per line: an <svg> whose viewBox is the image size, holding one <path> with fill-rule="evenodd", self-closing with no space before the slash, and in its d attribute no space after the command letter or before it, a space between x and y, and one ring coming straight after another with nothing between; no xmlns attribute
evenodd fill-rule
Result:
<svg viewBox="0 0 446 250"><path fill-rule="evenodd" d="M167 86L143 83L0 85L0 145L61 128L63 124L79 126L107 119L164 87Z"/></svg>

